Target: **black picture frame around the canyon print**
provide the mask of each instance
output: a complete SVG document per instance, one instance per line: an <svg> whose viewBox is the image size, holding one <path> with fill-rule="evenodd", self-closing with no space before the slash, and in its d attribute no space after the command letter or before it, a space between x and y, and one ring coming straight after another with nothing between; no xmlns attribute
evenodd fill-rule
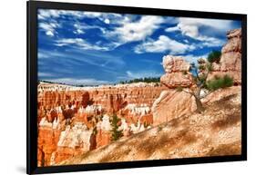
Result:
<svg viewBox="0 0 256 175"><path fill-rule="evenodd" d="M96 163L87 165L68 165L68 166L51 166L37 167L37 124L36 124L36 105L37 105L37 18L36 10L44 9L63 9L77 11L93 12L111 12L122 14L136 15L171 15L184 17L201 17L201 18L218 18L241 20L242 33L242 72L241 72L241 155L236 156L218 156L203 158L184 158L172 160L139 160L115 163ZM247 160L247 15L241 14L224 14L211 12L196 12L183 10L167 10L155 8L141 8L129 6L113 5L86 5L86 4L69 4L43 1L26 2L27 9L27 87L26 87L26 173L52 173L52 172L70 172L82 170L112 170L127 169L138 167L156 167L167 165L209 163L222 161Z"/></svg>

